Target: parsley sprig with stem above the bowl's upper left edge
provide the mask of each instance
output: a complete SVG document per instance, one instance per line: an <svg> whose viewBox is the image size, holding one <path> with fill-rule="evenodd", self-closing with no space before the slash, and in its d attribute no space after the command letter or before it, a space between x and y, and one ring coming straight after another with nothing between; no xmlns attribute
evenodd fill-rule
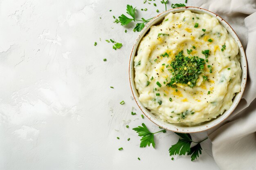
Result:
<svg viewBox="0 0 256 170"><path fill-rule="evenodd" d="M148 20L145 20L144 18L141 18L141 20L136 19L136 16L135 16L136 7L133 8L131 5L126 6L126 11L127 11L126 13L130 15L132 18L128 18L126 15L121 14L121 16L118 17L121 25L122 26L127 25L132 21L134 22L140 21L140 23L137 23L135 28L133 29L134 31L137 31L137 32L141 31L144 28L145 23L149 22L152 19L152 18Z"/></svg>

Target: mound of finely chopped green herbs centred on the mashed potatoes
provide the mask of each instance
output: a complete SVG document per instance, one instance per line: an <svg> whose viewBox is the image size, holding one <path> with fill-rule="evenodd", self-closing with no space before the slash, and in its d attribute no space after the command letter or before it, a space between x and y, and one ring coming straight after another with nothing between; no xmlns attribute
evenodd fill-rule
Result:
<svg viewBox="0 0 256 170"><path fill-rule="evenodd" d="M171 77L171 82L166 85L176 88L176 84L181 83L188 84L192 88L195 86L199 75L203 73L204 64L204 59L184 56L183 51L181 51L170 64L173 68L173 77Z"/></svg>

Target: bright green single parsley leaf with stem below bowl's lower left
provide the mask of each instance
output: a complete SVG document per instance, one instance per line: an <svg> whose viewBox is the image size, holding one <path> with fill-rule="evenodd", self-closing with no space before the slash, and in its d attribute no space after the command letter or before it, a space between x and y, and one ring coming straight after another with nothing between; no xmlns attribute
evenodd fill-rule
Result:
<svg viewBox="0 0 256 170"><path fill-rule="evenodd" d="M141 136L142 138L140 139L140 148L145 148L146 146L150 146L150 144L152 144L153 148L155 148L155 141L154 141L154 134L159 133L159 132L163 132L165 133L166 130L160 130L158 132L150 132L147 128L147 126L142 123L142 126L138 126L137 128L133 128L132 130L135 130L139 136Z"/></svg>

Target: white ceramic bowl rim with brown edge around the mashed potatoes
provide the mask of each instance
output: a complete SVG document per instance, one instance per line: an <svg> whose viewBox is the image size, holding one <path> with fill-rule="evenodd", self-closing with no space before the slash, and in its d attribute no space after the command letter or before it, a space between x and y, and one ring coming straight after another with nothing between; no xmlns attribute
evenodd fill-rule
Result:
<svg viewBox="0 0 256 170"><path fill-rule="evenodd" d="M207 121L206 124L196 125L196 126L176 126L175 124L165 123L162 120L157 120L157 118L155 116L154 116L155 118L153 116L150 116L150 114L152 114L152 113L148 114L147 111L146 111L147 108L145 108L142 104L140 104L139 99L137 99L137 96L135 95L135 91L137 91L137 89L132 84L133 81L134 81L134 76L132 76L132 74L133 74L132 70L134 69L133 59L135 57L135 53L137 51L137 47L139 45L139 42L144 37L144 35L148 31L148 29L150 29L151 24L153 25L153 22L155 22L156 20L160 20L160 19L162 20L162 18L164 18L169 13L177 13L177 12L182 12L182 11L185 11L185 10L192 10L193 12L199 12L199 13L207 13L207 14L211 15L212 17L215 17L215 18L218 19L220 24L222 24L222 26L224 26L225 29L227 29L228 33L232 36L232 38L234 38L234 40L237 42L237 44L239 46L240 67L242 69L242 73L241 73L241 89L240 89L240 92L236 93L236 95L233 97L233 99L235 99L235 97L238 95L238 98L236 99L236 101L233 101L233 103L230 106L230 108L225 111L225 112L229 111L229 113L226 114L224 112L219 117L217 117L215 119L212 119L211 121ZM233 35L232 35L232 33L233 33ZM241 62L242 58L244 60L243 61L244 65L241 64L242 63ZM173 132L180 132L180 133L203 132L205 130L209 130L209 129L211 129L211 128L221 124L223 121L225 121L234 112L234 110L238 106L238 103L240 102L240 100L242 98L242 95L243 95L243 93L245 91L245 86L246 86L246 82L247 82L247 58L246 58L246 55L245 55L245 50L243 49L243 45L242 45L242 43L240 42L240 40L238 38L238 35L234 31L234 29L223 18L221 18L219 15L217 15L216 13L213 13L213 12L207 10L207 9L200 8L200 7L178 7L178 8L175 8L175 9L169 9L169 10L167 10L167 11L165 11L163 13L160 13L159 15L155 16L152 20L150 20L150 22L148 22L145 25L145 27L139 33L137 39L135 40L135 43L132 46L132 51L130 53L130 59L129 59L129 82L130 82L130 88L131 88L131 91L132 91L132 95L133 95L133 97L135 99L135 102L136 102L137 106L139 106L141 112L148 119L150 119L150 121L152 121L154 124L156 124L159 127L164 128L166 130L173 131ZM220 119L220 117L222 117L222 119ZM220 119L220 120L218 121L218 119ZM212 121L214 121L214 120L217 120L217 122L215 124L212 123ZM163 126L163 125L169 125L169 126ZM208 125L208 126L206 126L206 125ZM171 126L176 126L176 127L171 127ZM204 127L200 127L200 126L204 126Z"/></svg>

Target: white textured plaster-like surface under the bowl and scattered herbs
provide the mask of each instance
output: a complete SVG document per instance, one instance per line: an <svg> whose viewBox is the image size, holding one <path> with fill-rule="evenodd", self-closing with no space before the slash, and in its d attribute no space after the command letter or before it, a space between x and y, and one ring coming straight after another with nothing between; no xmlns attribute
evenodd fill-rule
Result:
<svg viewBox="0 0 256 170"><path fill-rule="evenodd" d="M209 140L202 143L197 161L189 156L171 161L168 148L177 135L158 134L155 149L139 148L139 137L131 130L142 122L152 131L159 128L141 119L131 97L128 60L138 33L112 23L112 15L132 4L151 18L156 9L164 9L155 3L157 7L143 0L0 1L1 170L218 169ZM124 46L114 51L105 41L110 38ZM120 105L121 100L126 103Z"/></svg>

